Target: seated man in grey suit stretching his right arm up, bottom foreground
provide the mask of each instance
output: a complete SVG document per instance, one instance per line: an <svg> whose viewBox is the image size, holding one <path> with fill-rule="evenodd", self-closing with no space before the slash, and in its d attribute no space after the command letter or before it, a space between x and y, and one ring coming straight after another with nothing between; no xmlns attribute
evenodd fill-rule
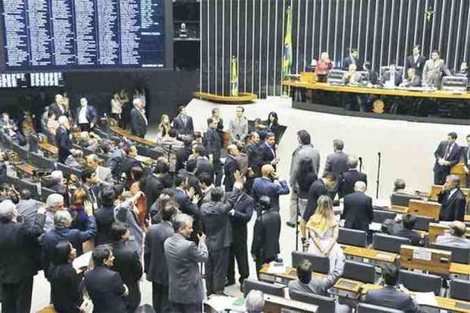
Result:
<svg viewBox="0 0 470 313"><path fill-rule="evenodd" d="M311 262L304 259L297 266L297 280L291 280L288 284L289 296L292 298L292 291L304 292L306 294L318 294L319 296L329 296L328 289L334 286L338 278L343 274L343 264L335 266L333 271L325 278L312 278L313 266ZM351 312L348 305L336 303L336 313Z"/></svg>

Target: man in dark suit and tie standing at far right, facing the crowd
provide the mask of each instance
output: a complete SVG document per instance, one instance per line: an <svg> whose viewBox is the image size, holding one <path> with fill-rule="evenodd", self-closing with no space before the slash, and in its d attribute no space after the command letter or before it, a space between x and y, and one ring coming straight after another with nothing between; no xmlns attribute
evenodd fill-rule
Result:
<svg viewBox="0 0 470 313"><path fill-rule="evenodd" d="M441 141L436 151L434 151L434 184L444 185L447 175L451 174L451 167L460 160L460 146L455 143L457 134L451 132L447 134L447 140Z"/></svg>

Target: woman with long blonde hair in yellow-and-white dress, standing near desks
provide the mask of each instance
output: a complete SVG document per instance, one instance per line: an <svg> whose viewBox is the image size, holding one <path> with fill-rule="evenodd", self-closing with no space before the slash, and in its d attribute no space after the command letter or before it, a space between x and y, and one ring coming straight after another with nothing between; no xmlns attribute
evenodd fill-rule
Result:
<svg viewBox="0 0 470 313"><path fill-rule="evenodd" d="M318 198L315 214L308 220L306 227L313 254L329 257L330 271L333 271L338 262L344 262L343 250L336 242L339 225L329 196L321 195Z"/></svg>

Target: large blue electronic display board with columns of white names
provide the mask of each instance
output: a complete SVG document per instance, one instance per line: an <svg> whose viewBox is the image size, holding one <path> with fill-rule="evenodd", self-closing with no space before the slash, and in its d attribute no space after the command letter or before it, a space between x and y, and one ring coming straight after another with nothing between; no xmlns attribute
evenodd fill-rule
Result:
<svg viewBox="0 0 470 313"><path fill-rule="evenodd" d="M164 0L0 0L5 70L166 67Z"/></svg>

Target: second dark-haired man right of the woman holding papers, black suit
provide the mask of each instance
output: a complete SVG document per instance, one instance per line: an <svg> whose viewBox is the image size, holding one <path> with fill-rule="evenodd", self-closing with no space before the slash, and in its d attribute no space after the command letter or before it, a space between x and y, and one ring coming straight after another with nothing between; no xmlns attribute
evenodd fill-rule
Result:
<svg viewBox="0 0 470 313"><path fill-rule="evenodd" d="M125 298L127 313L134 313L141 303L139 280L142 277L142 264L139 248L134 241L129 240L129 227L123 223L114 223L111 226L111 247L113 248L114 262L111 269L120 274L124 284L129 289Z"/></svg>

